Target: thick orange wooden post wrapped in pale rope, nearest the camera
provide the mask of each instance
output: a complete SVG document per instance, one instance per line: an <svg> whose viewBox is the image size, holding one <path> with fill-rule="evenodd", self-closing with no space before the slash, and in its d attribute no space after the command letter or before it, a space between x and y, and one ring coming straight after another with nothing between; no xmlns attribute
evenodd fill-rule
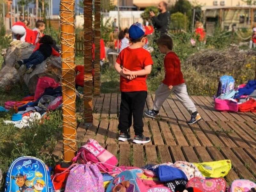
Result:
<svg viewBox="0 0 256 192"><path fill-rule="evenodd" d="M76 152L75 0L60 1L64 162Z"/></svg>

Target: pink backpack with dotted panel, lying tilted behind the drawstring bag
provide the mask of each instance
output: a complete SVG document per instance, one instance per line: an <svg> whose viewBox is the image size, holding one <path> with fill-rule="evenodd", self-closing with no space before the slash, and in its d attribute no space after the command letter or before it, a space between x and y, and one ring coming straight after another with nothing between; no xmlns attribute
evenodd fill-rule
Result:
<svg viewBox="0 0 256 192"><path fill-rule="evenodd" d="M72 159L72 161L83 164L92 162L97 164L100 171L108 173L115 172L113 171L113 168L115 168L118 163L116 156L109 153L93 139L88 139L86 144L78 150L77 155Z"/></svg>

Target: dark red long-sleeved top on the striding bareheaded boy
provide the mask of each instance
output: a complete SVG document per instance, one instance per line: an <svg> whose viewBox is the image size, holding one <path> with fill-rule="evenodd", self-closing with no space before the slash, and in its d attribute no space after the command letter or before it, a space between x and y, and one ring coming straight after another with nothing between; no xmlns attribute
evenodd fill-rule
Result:
<svg viewBox="0 0 256 192"><path fill-rule="evenodd" d="M180 59L175 52L169 52L164 57L165 77L163 84L174 86L185 83L180 69Z"/></svg>

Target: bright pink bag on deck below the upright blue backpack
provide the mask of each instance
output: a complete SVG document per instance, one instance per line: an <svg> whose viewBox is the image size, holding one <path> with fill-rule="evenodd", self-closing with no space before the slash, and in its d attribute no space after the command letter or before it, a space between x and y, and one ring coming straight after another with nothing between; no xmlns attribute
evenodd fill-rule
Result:
<svg viewBox="0 0 256 192"><path fill-rule="evenodd" d="M238 111L238 103L233 100L221 100L221 99L216 98L214 108L217 111L237 112Z"/></svg>

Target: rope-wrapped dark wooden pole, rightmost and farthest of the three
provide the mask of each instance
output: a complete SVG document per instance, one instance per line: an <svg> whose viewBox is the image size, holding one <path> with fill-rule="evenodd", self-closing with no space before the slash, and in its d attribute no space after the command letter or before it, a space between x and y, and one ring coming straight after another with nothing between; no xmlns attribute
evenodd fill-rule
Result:
<svg viewBox="0 0 256 192"><path fill-rule="evenodd" d="M100 0L94 0L94 96L100 95Z"/></svg>

